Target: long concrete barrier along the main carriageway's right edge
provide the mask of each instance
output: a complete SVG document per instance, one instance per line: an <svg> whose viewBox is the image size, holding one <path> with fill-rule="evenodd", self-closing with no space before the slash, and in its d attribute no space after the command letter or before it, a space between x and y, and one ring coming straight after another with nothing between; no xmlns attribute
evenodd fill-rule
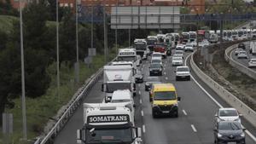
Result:
<svg viewBox="0 0 256 144"><path fill-rule="evenodd" d="M207 84L213 91L215 91L224 101L230 104L231 107L235 107L238 112L240 112L244 118L254 127L256 127L256 112L252 108L247 107L245 103L236 98L235 95L231 94L230 91L224 89L223 86L215 82L212 78L207 76L206 73L202 72L201 69L196 66L194 61L194 54L191 56L190 66L195 72L198 78L200 78L205 84Z"/></svg>

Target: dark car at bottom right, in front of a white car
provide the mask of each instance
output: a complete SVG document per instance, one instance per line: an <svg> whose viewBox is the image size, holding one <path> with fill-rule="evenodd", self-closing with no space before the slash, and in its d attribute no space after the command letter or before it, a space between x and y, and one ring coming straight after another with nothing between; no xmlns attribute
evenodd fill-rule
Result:
<svg viewBox="0 0 256 144"><path fill-rule="evenodd" d="M214 128L214 143L240 143L245 144L245 129L236 121L220 121Z"/></svg>

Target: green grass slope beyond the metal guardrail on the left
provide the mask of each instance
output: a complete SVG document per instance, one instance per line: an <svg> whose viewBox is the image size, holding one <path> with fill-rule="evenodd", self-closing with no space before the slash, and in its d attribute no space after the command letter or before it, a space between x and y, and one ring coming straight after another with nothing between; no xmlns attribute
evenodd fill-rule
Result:
<svg viewBox="0 0 256 144"><path fill-rule="evenodd" d="M115 54L108 55L109 60L112 60ZM84 62L80 62L79 87L84 81L95 73L100 67L104 65L104 55L96 55L90 68ZM61 87L60 87L60 102L58 102L57 88L56 88L56 72L55 63L50 65L47 69L51 83L45 95L38 98L26 97L26 124L28 140L34 139L44 131L44 126L49 118L53 118L58 110L72 98L75 91L79 88L74 84L74 69L61 65ZM15 143L20 143L22 137L22 112L21 112L21 98L14 99L15 107L7 109L6 112L14 115L14 134L11 135L11 140ZM1 132L2 133L2 132ZM3 134L0 134L3 137ZM1 143L1 141L0 141Z"/></svg>

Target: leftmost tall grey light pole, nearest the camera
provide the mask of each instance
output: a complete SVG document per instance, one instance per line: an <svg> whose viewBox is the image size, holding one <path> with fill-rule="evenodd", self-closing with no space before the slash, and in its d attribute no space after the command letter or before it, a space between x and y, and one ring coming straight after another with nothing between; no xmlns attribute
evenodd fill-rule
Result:
<svg viewBox="0 0 256 144"><path fill-rule="evenodd" d="M25 95L25 68L24 68L24 48L23 48L23 20L22 8L20 3L20 61L21 61L21 103L22 103L22 127L23 127L23 140L26 141L26 95Z"/></svg>

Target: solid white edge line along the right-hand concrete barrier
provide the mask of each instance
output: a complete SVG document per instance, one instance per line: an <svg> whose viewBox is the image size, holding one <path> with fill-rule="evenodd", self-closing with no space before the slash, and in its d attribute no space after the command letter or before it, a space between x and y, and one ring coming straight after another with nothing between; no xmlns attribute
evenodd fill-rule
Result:
<svg viewBox="0 0 256 144"><path fill-rule="evenodd" d="M186 57L185 66L187 66L187 60L188 60L189 56L192 55L192 54L193 54L193 53L189 54L188 57ZM195 84L197 84L197 85L200 87L200 89L202 89L202 90L210 97L210 99L212 99L212 101L214 101L214 102L218 105L218 107L223 108L223 106L222 106L220 103L218 103L218 101L216 101L216 100L212 97L212 95L210 95L210 94L207 92L207 90L204 89L204 88L201 86L201 84L199 84L199 83L195 80L195 78L194 78L192 75L190 75L190 77L194 80ZM244 127L242 124L241 124L241 126ZM247 133L247 135L249 135L249 136L253 139L253 141L256 142L256 137L255 137L250 131L245 130L245 132Z"/></svg>

